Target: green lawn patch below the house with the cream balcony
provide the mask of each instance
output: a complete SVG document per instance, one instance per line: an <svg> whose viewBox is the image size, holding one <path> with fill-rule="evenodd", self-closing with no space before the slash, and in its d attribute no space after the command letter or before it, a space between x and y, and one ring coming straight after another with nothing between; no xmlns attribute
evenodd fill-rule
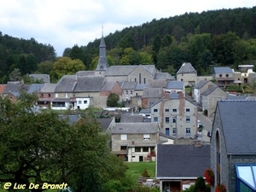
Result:
<svg viewBox="0 0 256 192"><path fill-rule="evenodd" d="M131 175L134 182L137 183L144 169L147 169L150 177L155 177L155 162L125 162L128 166L127 174Z"/></svg>

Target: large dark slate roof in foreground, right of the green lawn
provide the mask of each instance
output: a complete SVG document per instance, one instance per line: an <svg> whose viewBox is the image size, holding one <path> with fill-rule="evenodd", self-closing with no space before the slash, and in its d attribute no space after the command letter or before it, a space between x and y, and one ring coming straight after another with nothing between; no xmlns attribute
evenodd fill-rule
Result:
<svg viewBox="0 0 256 192"><path fill-rule="evenodd" d="M210 167L210 145L157 145L156 177L199 177Z"/></svg>

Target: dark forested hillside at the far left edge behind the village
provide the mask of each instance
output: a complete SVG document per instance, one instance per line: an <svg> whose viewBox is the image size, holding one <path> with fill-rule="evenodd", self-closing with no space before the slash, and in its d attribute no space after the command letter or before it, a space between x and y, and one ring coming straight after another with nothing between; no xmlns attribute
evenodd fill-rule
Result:
<svg viewBox="0 0 256 192"><path fill-rule="evenodd" d="M35 73L40 62L55 61L55 56L55 49L50 44L39 44L34 38L14 38L0 32L0 82L6 83L15 68L21 75Z"/></svg>

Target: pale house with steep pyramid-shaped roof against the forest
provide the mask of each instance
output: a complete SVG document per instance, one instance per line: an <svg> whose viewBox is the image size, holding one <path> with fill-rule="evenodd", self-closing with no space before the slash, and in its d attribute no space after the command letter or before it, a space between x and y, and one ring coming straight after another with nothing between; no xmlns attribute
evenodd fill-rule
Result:
<svg viewBox="0 0 256 192"><path fill-rule="evenodd" d="M183 65L178 69L177 81L183 81L184 86L194 86L197 84L197 72L190 62L184 62Z"/></svg>

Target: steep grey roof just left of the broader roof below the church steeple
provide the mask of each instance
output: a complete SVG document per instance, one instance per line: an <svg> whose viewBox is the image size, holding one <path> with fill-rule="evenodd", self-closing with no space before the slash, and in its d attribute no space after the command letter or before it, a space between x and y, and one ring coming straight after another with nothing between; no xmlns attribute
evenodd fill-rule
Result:
<svg viewBox="0 0 256 192"><path fill-rule="evenodd" d="M64 75L56 84L55 92L73 92L75 84L77 84L76 75Z"/></svg>

